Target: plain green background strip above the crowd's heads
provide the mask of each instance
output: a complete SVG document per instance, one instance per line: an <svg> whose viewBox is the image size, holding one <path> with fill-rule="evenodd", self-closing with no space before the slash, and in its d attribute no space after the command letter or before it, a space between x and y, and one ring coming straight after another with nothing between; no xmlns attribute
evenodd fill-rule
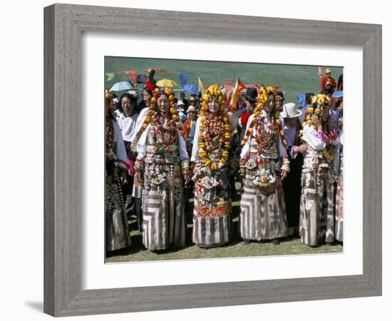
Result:
<svg viewBox="0 0 392 321"><path fill-rule="evenodd" d="M331 76L337 81L339 75L343 73L342 67L321 66L323 72L326 67L332 71ZM115 78L106 81L105 88L110 88L118 81L128 81L128 76L123 71L137 70L138 73L145 73L148 68L163 68L167 72L158 71L155 80L169 78L177 83L178 73L187 73L191 76L188 83L197 85L197 77L207 86L212 83L222 81L235 81L239 76L240 80L246 84L274 85L281 84L281 91L284 91L285 102L296 103L298 93L318 93L320 91L319 66L298 66L269 63L232 63L220 61L185 61L171 59L150 59L150 58L127 58L127 57L105 57L105 73L115 73ZM143 88L143 83L138 83L137 88ZM180 89L177 87L175 89Z"/></svg>

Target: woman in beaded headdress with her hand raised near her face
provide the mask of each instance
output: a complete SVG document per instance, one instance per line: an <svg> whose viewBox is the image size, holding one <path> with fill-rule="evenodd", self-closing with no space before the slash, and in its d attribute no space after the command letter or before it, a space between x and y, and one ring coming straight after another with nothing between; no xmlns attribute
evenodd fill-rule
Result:
<svg viewBox="0 0 392 321"><path fill-rule="evenodd" d="M329 118L330 98L314 96L306 111L302 141L306 144L301 178L299 235L302 243L330 245L335 238L334 144L336 131Z"/></svg>

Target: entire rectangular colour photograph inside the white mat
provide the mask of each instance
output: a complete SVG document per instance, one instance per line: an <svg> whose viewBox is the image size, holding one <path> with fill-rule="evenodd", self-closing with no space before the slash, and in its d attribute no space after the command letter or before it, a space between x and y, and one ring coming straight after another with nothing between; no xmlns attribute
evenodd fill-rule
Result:
<svg viewBox="0 0 392 321"><path fill-rule="evenodd" d="M105 263L344 251L344 66L105 56Z"/></svg>

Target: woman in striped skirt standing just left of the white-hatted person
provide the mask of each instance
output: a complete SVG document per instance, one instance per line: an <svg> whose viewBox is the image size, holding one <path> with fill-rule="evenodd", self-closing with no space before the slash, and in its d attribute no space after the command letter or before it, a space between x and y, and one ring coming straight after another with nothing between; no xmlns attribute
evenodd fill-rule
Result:
<svg viewBox="0 0 392 321"><path fill-rule="evenodd" d="M239 168L244 178L240 201L240 234L244 243L287 236L282 180L289 172L276 88L262 86L257 107L249 117Z"/></svg>

